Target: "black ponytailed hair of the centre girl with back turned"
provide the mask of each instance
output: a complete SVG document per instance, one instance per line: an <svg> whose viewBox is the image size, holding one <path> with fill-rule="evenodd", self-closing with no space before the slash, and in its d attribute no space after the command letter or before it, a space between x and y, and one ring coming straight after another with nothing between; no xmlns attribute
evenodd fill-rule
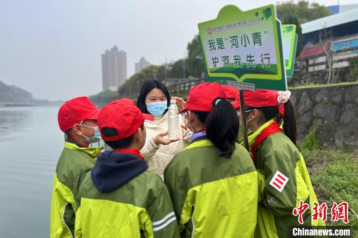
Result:
<svg viewBox="0 0 358 238"><path fill-rule="evenodd" d="M231 103L223 98L216 98L212 106L211 112L193 112L205 124L207 137L220 150L220 156L231 158L239 133L239 117Z"/></svg>

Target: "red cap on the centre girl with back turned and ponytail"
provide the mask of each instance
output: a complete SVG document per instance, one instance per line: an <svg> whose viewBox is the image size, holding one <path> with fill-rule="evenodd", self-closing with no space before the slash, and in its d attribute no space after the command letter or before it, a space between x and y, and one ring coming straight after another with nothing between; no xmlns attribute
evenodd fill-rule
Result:
<svg viewBox="0 0 358 238"><path fill-rule="evenodd" d="M189 91L187 106L178 113L185 110L190 111L212 111L213 101L216 98L227 99L225 91L218 83L202 83L194 86Z"/></svg>

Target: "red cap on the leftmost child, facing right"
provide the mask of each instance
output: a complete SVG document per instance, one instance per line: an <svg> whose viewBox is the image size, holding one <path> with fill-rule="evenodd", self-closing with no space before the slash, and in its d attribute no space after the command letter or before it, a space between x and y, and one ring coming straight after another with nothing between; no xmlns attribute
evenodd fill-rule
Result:
<svg viewBox="0 0 358 238"><path fill-rule="evenodd" d="M87 97L79 97L65 102L59 109L57 120L61 131L65 132L75 124L85 120L97 120L100 109Z"/></svg>

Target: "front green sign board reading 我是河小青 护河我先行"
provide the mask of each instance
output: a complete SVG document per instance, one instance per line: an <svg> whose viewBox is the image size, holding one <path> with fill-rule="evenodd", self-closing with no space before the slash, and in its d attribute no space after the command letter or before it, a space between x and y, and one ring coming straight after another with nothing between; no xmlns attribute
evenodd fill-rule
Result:
<svg viewBox="0 0 358 238"><path fill-rule="evenodd" d="M281 23L274 5L245 12L228 5L198 28L209 82L236 80L286 90Z"/></svg>

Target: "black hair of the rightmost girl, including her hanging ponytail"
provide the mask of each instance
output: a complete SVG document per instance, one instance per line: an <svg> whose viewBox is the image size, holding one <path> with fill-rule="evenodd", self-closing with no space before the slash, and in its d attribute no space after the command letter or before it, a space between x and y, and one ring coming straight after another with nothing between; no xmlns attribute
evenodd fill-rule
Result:
<svg viewBox="0 0 358 238"><path fill-rule="evenodd" d="M283 115L283 132L286 136L296 145L297 144L297 128L296 128L296 114L295 107L290 100L285 104L285 113ZM247 110L257 109L260 110L265 117L266 122L270 121L272 118L281 118L277 106L272 107L246 107Z"/></svg>

